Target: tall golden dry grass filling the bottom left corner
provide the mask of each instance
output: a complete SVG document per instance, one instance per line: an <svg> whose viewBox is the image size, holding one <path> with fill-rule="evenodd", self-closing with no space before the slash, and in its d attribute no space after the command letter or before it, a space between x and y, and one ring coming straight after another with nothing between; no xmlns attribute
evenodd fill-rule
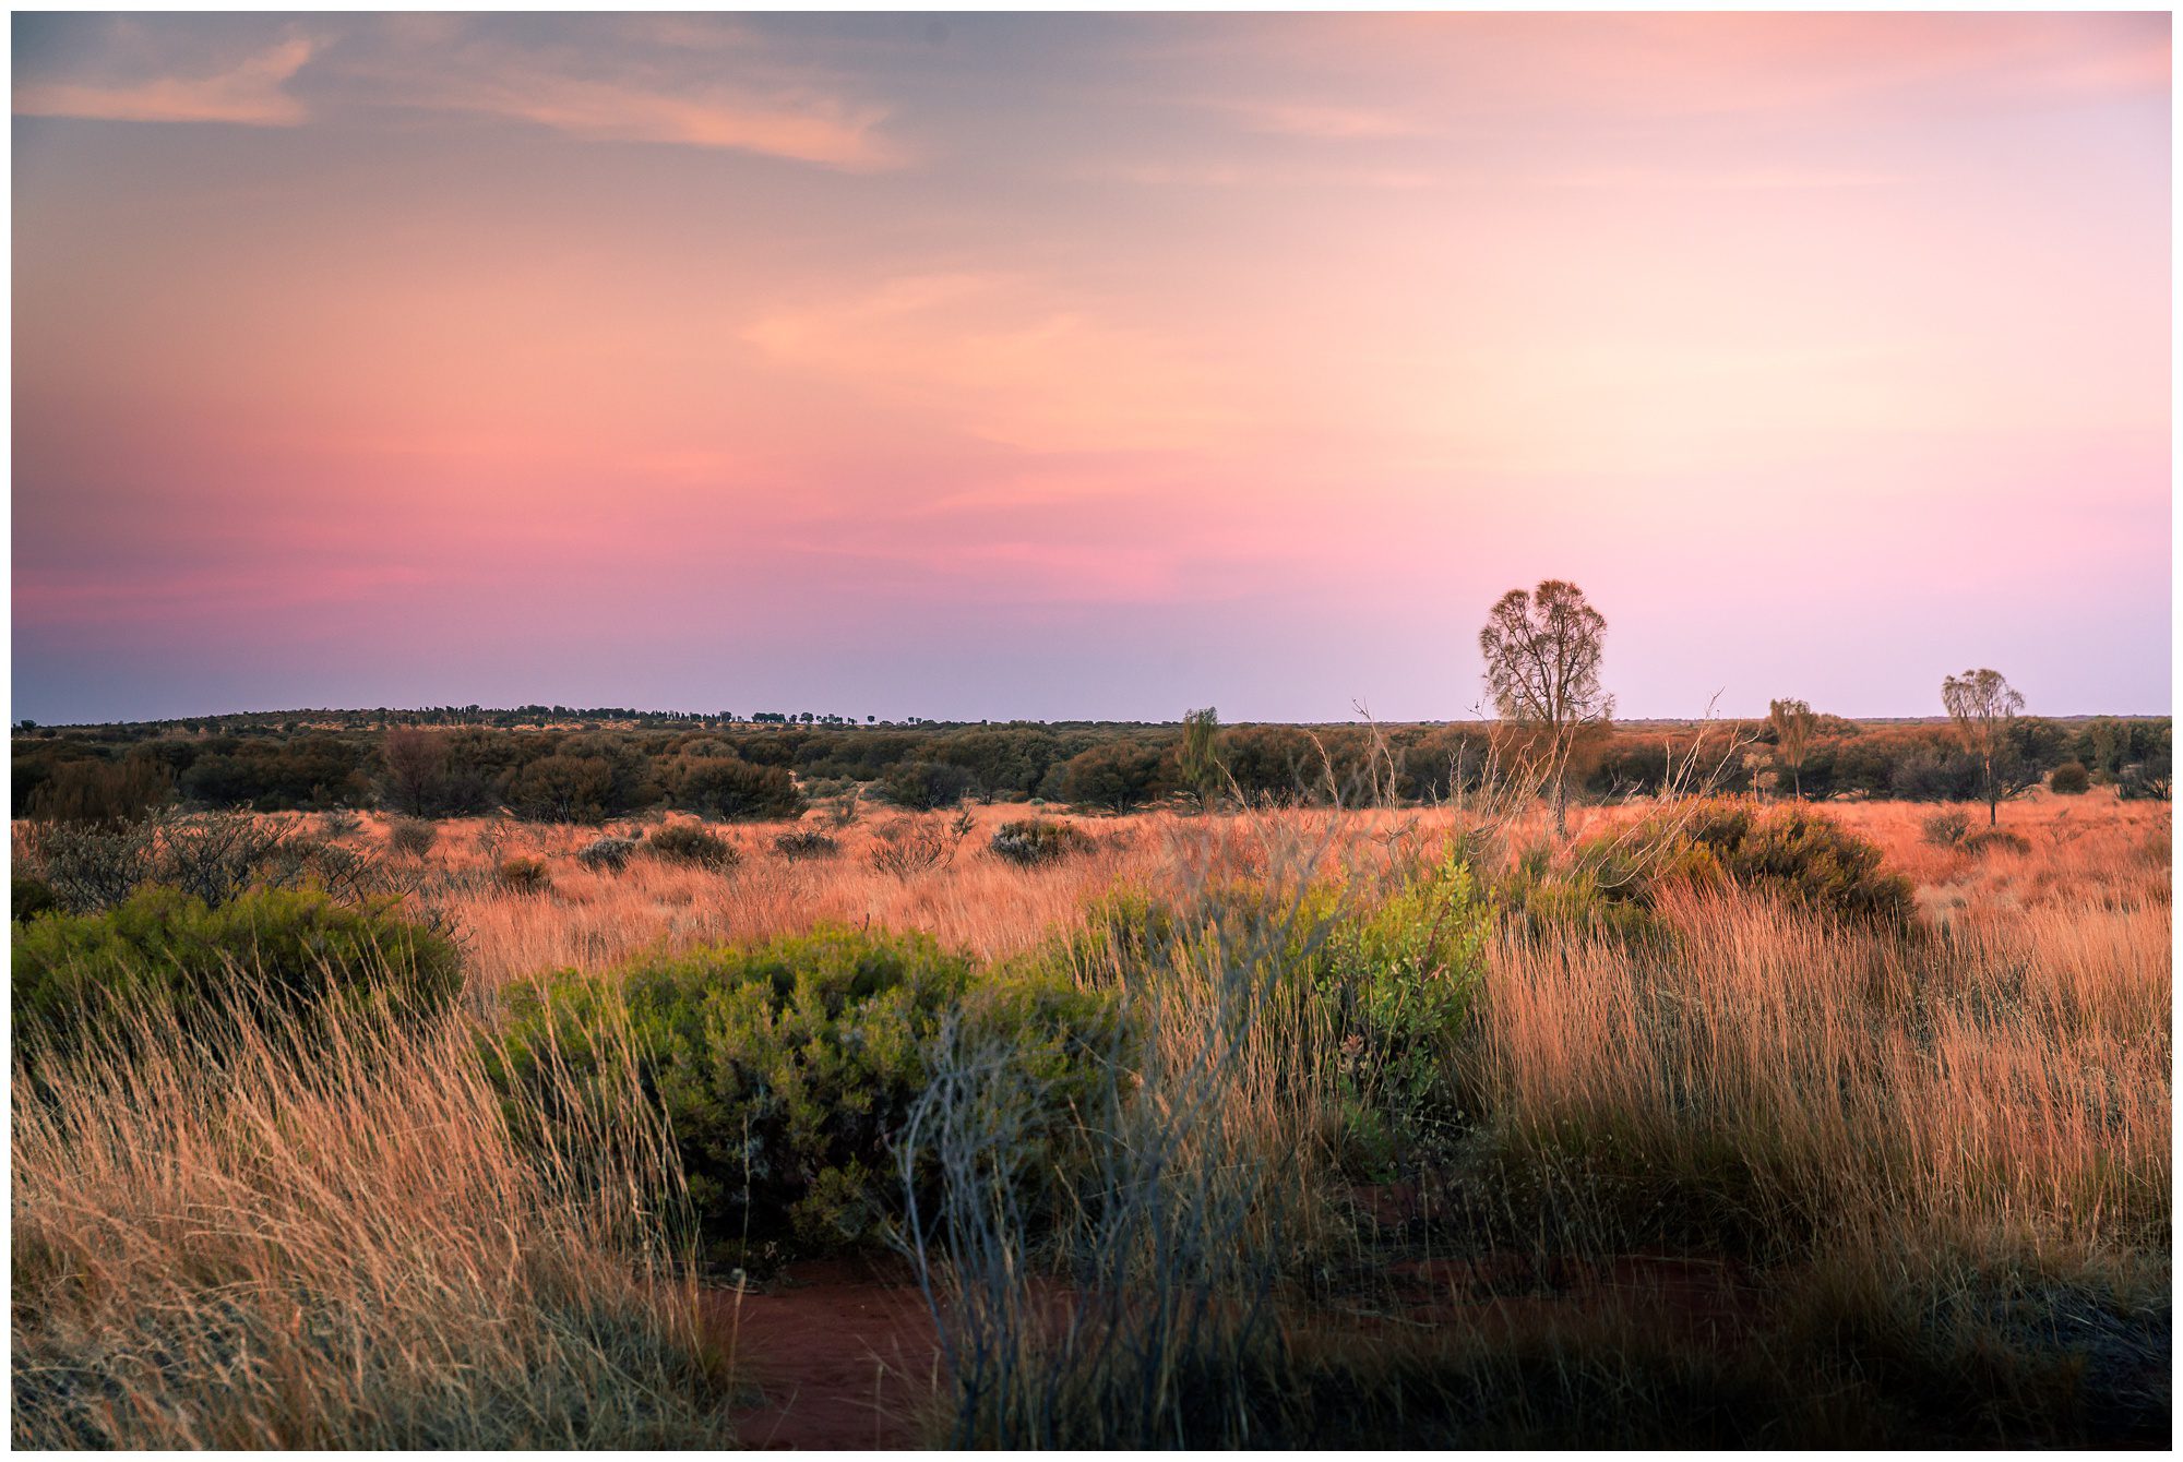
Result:
<svg viewBox="0 0 2183 1462"><path fill-rule="evenodd" d="M517 1152L454 1021L297 1060L146 1017L17 1058L11 1115L20 1447L731 1440L635 1100Z"/></svg>

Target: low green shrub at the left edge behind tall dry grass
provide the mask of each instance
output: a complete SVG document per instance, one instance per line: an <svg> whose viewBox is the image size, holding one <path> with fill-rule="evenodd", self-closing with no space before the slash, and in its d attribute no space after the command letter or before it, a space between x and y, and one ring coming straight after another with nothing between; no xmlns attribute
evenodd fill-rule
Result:
<svg viewBox="0 0 2183 1462"><path fill-rule="evenodd" d="M135 1002L186 1017L258 1002L303 1010L323 999L384 999L439 1010L461 988L456 949L404 921L391 901L345 908L323 892L255 888L207 908L144 888L103 914L15 925L15 1036L120 1030Z"/></svg>

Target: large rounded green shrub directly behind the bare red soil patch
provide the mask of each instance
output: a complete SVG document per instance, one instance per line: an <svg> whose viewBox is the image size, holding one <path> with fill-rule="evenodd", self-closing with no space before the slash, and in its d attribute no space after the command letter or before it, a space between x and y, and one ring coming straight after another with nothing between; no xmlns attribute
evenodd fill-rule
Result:
<svg viewBox="0 0 2183 1462"><path fill-rule="evenodd" d="M611 1082L603 1032L624 1019L701 1222L751 1246L738 1261L871 1239L899 1213L893 1143L950 1019L1050 1093L1050 1150L1116 1036L1113 1004L1067 980L980 971L921 934L823 927L515 986L489 1067L509 1091L550 1095L561 1067L578 1089Z"/></svg>

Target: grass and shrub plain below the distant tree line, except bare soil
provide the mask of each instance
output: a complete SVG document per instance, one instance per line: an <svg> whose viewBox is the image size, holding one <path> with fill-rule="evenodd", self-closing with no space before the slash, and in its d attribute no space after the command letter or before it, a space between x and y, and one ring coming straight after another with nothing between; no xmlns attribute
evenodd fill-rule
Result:
<svg viewBox="0 0 2183 1462"><path fill-rule="evenodd" d="M1092 751L980 735L1002 792ZM1450 766L1098 838L454 818L399 906L17 884L17 1002L98 1032L15 1052L17 1442L716 1445L694 1296L840 1250L928 1285L963 1445L2166 1438L2166 807L1552 840ZM389 997L443 936L461 997Z"/></svg>

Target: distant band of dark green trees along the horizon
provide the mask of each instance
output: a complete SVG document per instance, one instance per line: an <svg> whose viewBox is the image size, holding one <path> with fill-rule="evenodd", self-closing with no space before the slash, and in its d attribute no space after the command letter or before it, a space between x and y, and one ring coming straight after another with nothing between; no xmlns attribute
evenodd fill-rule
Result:
<svg viewBox="0 0 2183 1462"><path fill-rule="evenodd" d="M1801 788L1808 799L1987 801L1987 755L1945 722L1880 724L1812 714L1716 722L1707 746L1731 738L1746 755L1716 772L1722 792ZM1722 733L1729 735L1722 735ZM1788 742L1784 742L1784 733ZM1493 748L1480 722L1397 727L856 727L749 722L685 729L513 731L480 724L404 724L371 731L138 735L70 729L17 735L13 814L120 799L177 799L205 807L386 807L415 816L498 807L526 818L596 823L659 807L720 818L779 818L810 796L862 788L899 807L1046 799L1129 812L1166 799L1192 805L1325 803L1380 777L1395 796L1430 803L1471 790ZM1377 740L1375 740L1377 738ZM1701 727L1659 731L1589 722L1567 744L1572 799L1655 794L1692 757ZM2166 718L1997 722L1995 792L2008 796L2059 768L2126 796L2166 796ZM2074 783L2076 772L2069 772ZM2056 786L2063 786L2059 779Z"/></svg>

